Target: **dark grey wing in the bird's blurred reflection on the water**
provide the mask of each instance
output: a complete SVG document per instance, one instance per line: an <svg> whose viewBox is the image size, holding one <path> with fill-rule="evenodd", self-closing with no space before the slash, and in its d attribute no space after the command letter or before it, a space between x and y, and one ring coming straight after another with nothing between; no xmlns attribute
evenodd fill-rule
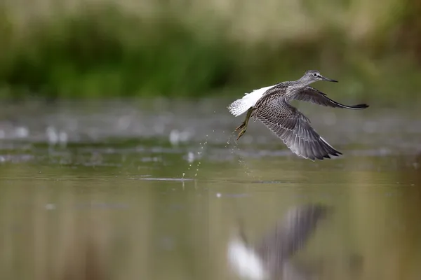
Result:
<svg viewBox="0 0 421 280"><path fill-rule="evenodd" d="M257 251L272 275L279 274L283 265L303 248L321 219L333 212L323 204L305 204L290 209L257 244Z"/></svg>

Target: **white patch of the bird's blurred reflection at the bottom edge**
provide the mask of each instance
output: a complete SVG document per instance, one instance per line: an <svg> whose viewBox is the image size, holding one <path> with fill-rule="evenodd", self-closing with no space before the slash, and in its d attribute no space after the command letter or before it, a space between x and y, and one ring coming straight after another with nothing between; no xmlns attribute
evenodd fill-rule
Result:
<svg viewBox="0 0 421 280"><path fill-rule="evenodd" d="M252 248L248 248L238 237L229 241L228 260L231 268L241 279L267 279L262 260Z"/></svg>

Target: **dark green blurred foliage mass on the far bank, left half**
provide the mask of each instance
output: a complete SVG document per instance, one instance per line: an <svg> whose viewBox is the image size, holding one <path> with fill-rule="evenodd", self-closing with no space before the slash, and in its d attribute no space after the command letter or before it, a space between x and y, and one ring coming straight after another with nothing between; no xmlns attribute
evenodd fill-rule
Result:
<svg viewBox="0 0 421 280"><path fill-rule="evenodd" d="M11 52L4 85L60 97L185 94L227 83L229 53L176 20L145 25L116 11L66 16L34 27L30 47Z"/></svg>

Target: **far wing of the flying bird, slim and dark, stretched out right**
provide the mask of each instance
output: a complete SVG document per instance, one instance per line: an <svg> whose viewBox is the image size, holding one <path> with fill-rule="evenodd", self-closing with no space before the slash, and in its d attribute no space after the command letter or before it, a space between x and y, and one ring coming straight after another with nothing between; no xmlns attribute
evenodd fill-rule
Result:
<svg viewBox="0 0 421 280"><path fill-rule="evenodd" d="M307 86L295 96L295 99L307 102L313 102L322 106L328 106L333 108L345 108L345 109L366 109L367 104L358 104L354 106L347 106L333 101L326 96L325 93L320 90L316 90L314 87Z"/></svg>

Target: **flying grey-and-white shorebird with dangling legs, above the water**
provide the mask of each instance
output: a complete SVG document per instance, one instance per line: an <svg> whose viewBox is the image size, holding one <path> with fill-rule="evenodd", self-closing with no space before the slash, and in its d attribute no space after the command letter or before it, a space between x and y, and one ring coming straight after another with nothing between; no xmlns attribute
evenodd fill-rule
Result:
<svg viewBox="0 0 421 280"><path fill-rule="evenodd" d="M246 93L243 98L232 102L228 106L228 110L234 116L237 117L247 112L246 120L235 130L241 130L237 140L246 132L248 120L253 117L254 120L258 119L266 125L293 153L302 158L314 161L315 159L330 158L329 155L342 155L320 137L311 127L310 120L290 105L290 102L297 99L322 106L345 109L366 109L368 105L347 106L335 102L323 92L309 86L318 80L338 83L338 80L321 76L317 70L309 70L299 80L262 87L259 90Z"/></svg>

